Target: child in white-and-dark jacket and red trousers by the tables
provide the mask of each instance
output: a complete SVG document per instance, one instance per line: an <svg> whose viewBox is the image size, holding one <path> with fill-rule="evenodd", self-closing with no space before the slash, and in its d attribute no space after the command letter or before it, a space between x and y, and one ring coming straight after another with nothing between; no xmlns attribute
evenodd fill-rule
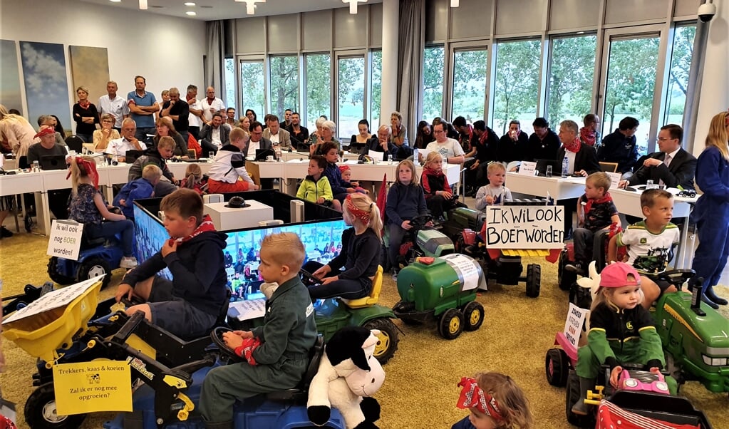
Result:
<svg viewBox="0 0 729 429"><path fill-rule="evenodd" d="M257 124L256 129L260 129L261 124L255 124ZM233 128L233 131L230 131L230 144L220 148L208 171L208 192L258 190L258 186L246 171L246 159L242 152L248 139L248 134L241 128Z"/></svg>

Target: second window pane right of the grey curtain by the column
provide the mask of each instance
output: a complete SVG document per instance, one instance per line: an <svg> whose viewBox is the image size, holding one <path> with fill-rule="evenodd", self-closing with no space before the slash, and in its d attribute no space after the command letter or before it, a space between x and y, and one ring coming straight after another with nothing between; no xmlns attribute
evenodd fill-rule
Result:
<svg viewBox="0 0 729 429"><path fill-rule="evenodd" d="M486 63L488 51L459 50L453 55L453 114L467 123L483 120L486 104Z"/></svg>

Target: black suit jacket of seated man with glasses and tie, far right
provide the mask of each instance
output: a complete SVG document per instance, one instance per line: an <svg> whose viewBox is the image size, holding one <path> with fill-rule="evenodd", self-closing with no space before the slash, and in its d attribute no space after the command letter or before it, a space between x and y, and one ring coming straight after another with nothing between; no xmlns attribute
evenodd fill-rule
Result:
<svg viewBox="0 0 729 429"><path fill-rule="evenodd" d="M655 158L660 161L666 158L664 152L653 152L648 158ZM629 185L644 185L648 179L658 184L663 180L668 188L677 188L681 185L684 189L693 189L693 177L696 174L696 158L689 152L679 149L671 164L661 163L655 167L636 166L635 173L628 179Z"/></svg>

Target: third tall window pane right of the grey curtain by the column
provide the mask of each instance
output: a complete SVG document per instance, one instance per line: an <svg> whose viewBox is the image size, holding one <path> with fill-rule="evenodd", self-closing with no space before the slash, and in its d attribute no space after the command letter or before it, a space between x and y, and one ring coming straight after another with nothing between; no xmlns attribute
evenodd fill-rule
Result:
<svg viewBox="0 0 729 429"><path fill-rule="evenodd" d="M506 134L510 120L521 120L521 129L531 134L539 100L539 57L542 42L503 42L496 47L494 131Z"/></svg>

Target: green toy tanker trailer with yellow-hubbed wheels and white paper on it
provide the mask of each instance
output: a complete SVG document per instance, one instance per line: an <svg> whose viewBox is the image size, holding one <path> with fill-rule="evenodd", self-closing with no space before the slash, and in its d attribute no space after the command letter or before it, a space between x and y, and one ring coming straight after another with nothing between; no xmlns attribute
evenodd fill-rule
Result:
<svg viewBox="0 0 729 429"><path fill-rule="evenodd" d="M467 255L416 258L397 277L401 301L392 310L407 324L435 320L440 336L456 339L483 324L483 306L475 299L485 288L481 266Z"/></svg>

